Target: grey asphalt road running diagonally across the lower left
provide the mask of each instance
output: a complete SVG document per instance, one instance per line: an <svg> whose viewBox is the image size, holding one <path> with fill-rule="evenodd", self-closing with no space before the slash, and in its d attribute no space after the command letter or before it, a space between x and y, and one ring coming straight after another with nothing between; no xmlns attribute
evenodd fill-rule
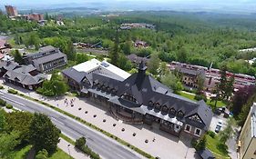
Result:
<svg viewBox="0 0 256 159"><path fill-rule="evenodd" d="M138 159L143 158L140 154L129 150L127 147L118 144L115 140L100 134L95 130L80 124L74 119L65 114L60 114L55 110L48 108L42 104L37 104L16 96L14 94L7 94L0 92L0 98L7 103L13 104L16 108L28 111L31 113L37 112L48 115L54 124L61 130L62 133L67 134L73 139L81 136L87 138L87 145L102 158L106 159Z"/></svg>

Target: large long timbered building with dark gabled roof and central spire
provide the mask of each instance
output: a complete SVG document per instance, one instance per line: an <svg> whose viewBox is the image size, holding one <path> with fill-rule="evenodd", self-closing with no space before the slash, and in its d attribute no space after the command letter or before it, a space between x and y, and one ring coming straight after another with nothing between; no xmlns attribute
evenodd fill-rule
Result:
<svg viewBox="0 0 256 159"><path fill-rule="evenodd" d="M138 73L127 78L99 72L84 74L79 78L83 85L80 92L108 106L111 114L128 123L159 124L159 129L177 136L181 132L194 137L204 134L213 115L210 107L204 101L194 102L173 94L167 86L146 75L146 70L141 62ZM76 80L70 71L63 73L68 81Z"/></svg>

